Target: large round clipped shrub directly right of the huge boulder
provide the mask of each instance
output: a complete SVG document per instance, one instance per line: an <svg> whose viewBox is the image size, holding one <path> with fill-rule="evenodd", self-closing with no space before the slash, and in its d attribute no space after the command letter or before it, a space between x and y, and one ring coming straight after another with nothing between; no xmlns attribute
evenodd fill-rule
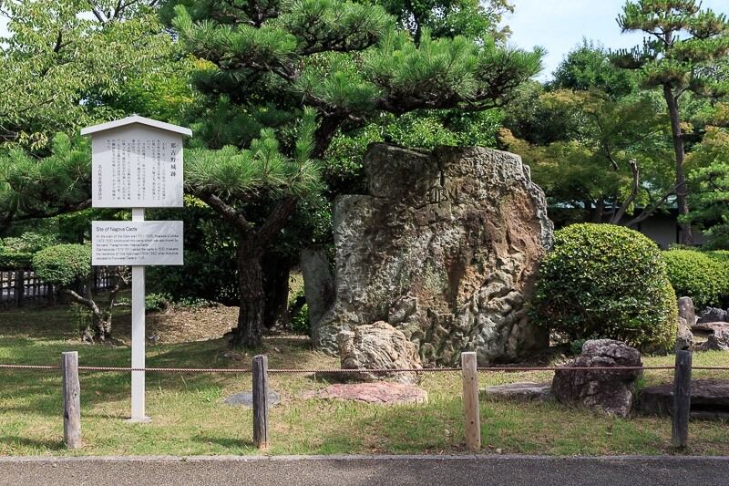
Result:
<svg viewBox="0 0 729 486"><path fill-rule="evenodd" d="M613 224L573 224L554 233L533 304L537 324L570 340L618 339L668 349L678 308L658 246Z"/></svg>

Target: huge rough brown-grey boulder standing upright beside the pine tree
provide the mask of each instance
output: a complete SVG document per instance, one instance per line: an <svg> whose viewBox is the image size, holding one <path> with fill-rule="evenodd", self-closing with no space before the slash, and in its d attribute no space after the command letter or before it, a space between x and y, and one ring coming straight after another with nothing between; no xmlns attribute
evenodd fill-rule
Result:
<svg viewBox="0 0 729 486"><path fill-rule="evenodd" d="M476 351L487 366L548 346L525 302L553 226L518 156L374 144L364 170L370 195L334 204L336 297L314 346L334 354L340 331L380 320L431 365Z"/></svg>

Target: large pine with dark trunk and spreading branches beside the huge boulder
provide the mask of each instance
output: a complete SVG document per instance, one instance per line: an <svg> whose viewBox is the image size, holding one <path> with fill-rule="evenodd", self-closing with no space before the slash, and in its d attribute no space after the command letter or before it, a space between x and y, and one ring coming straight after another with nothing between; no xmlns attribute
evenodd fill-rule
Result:
<svg viewBox="0 0 729 486"><path fill-rule="evenodd" d="M205 149L191 151L187 184L238 230L234 345L261 342L262 258L297 203L318 190L313 160L340 130L383 113L498 107L540 67L539 51L500 47L491 36L434 38L423 29L416 43L377 5L200 2L175 12L182 47L210 62L194 77L208 98L195 127ZM273 177L269 160L296 171ZM256 165L264 170L250 173Z"/></svg>

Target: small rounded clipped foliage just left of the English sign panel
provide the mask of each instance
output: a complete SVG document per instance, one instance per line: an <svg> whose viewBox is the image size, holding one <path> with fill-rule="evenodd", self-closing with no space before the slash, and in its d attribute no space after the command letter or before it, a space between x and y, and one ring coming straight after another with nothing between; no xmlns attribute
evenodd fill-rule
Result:
<svg viewBox="0 0 729 486"><path fill-rule="evenodd" d="M83 244L56 244L36 253L33 267L38 278L67 287L91 273L91 248Z"/></svg>

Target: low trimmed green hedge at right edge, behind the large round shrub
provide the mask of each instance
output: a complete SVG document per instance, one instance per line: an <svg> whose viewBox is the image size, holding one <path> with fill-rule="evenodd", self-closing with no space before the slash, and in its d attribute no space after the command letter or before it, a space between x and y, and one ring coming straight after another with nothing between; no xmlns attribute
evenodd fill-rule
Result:
<svg viewBox="0 0 729 486"><path fill-rule="evenodd" d="M691 297L697 309L729 304L729 257L726 252L676 248L663 252L663 260L676 295Z"/></svg>

